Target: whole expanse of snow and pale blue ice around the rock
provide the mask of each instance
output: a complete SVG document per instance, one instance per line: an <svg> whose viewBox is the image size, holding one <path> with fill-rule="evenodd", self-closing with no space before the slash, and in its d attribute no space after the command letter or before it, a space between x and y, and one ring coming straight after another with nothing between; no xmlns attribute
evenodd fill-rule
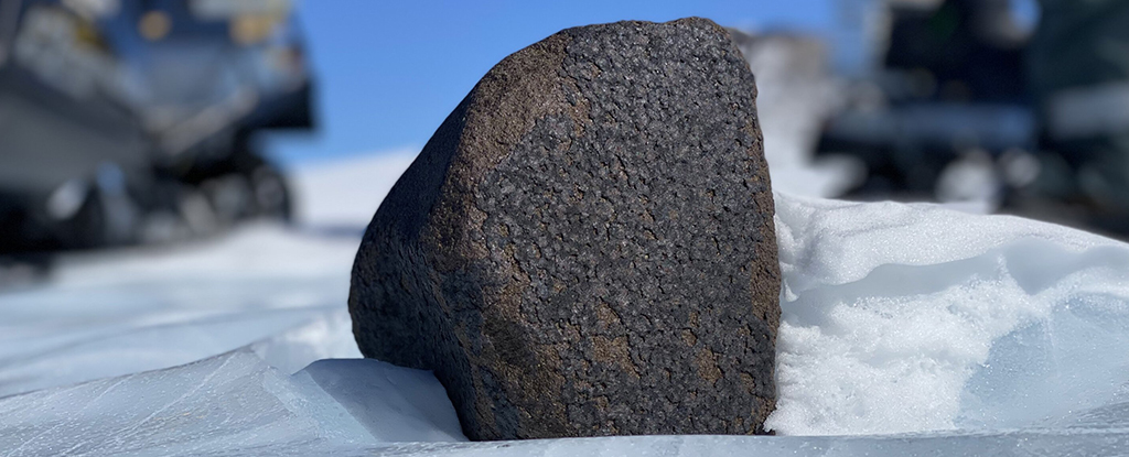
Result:
<svg viewBox="0 0 1129 457"><path fill-rule="evenodd" d="M455 442L430 373L324 360L359 357L344 305L352 256L410 157L300 170L294 229L71 256L50 282L0 292L0 456L1129 449L1129 246L1009 217L785 194L779 436Z"/></svg>

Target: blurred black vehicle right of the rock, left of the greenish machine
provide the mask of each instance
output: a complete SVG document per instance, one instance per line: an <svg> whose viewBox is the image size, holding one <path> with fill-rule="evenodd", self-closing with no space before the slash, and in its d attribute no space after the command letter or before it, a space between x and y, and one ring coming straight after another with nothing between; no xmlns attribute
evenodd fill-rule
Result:
<svg viewBox="0 0 1129 457"><path fill-rule="evenodd" d="M1031 25L1008 0L891 0L884 12L884 38L873 44L885 50L882 62L852 82L819 153L867 165L855 197L998 204L1006 184L996 162L1031 161L1038 143L1023 71Z"/></svg>

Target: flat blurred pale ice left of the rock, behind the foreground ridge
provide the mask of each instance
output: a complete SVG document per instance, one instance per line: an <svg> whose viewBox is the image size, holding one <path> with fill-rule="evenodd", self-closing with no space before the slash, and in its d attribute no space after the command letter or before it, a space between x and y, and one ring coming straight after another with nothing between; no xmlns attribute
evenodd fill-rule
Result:
<svg viewBox="0 0 1129 457"><path fill-rule="evenodd" d="M252 226L63 258L50 287L0 293L0 396L189 363L297 327L307 327L303 351L313 358L294 370L359 357L344 313L357 245Z"/></svg>

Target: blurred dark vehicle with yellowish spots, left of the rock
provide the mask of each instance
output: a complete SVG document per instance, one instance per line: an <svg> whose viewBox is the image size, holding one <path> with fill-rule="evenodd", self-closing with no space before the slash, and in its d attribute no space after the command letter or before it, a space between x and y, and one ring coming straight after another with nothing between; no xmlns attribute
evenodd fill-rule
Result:
<svg viewBox="0 0 1129 457"><path fill-rule="evenodd" d="M0 254L287 219L263 129L310 129L288 0L0 0Z"/></svg>

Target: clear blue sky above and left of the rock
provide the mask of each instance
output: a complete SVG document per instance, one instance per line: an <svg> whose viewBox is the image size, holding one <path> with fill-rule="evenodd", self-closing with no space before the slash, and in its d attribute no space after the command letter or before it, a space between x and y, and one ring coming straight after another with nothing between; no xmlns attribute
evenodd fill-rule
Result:
<svg viewBox="0 0 1129 457"><path fill-rule="evenodd" d="M479 78L572 26L686 16L745 29L828 32L837 0L304 0L320 130L272 134L281 161L419 148Z"/></svg>

